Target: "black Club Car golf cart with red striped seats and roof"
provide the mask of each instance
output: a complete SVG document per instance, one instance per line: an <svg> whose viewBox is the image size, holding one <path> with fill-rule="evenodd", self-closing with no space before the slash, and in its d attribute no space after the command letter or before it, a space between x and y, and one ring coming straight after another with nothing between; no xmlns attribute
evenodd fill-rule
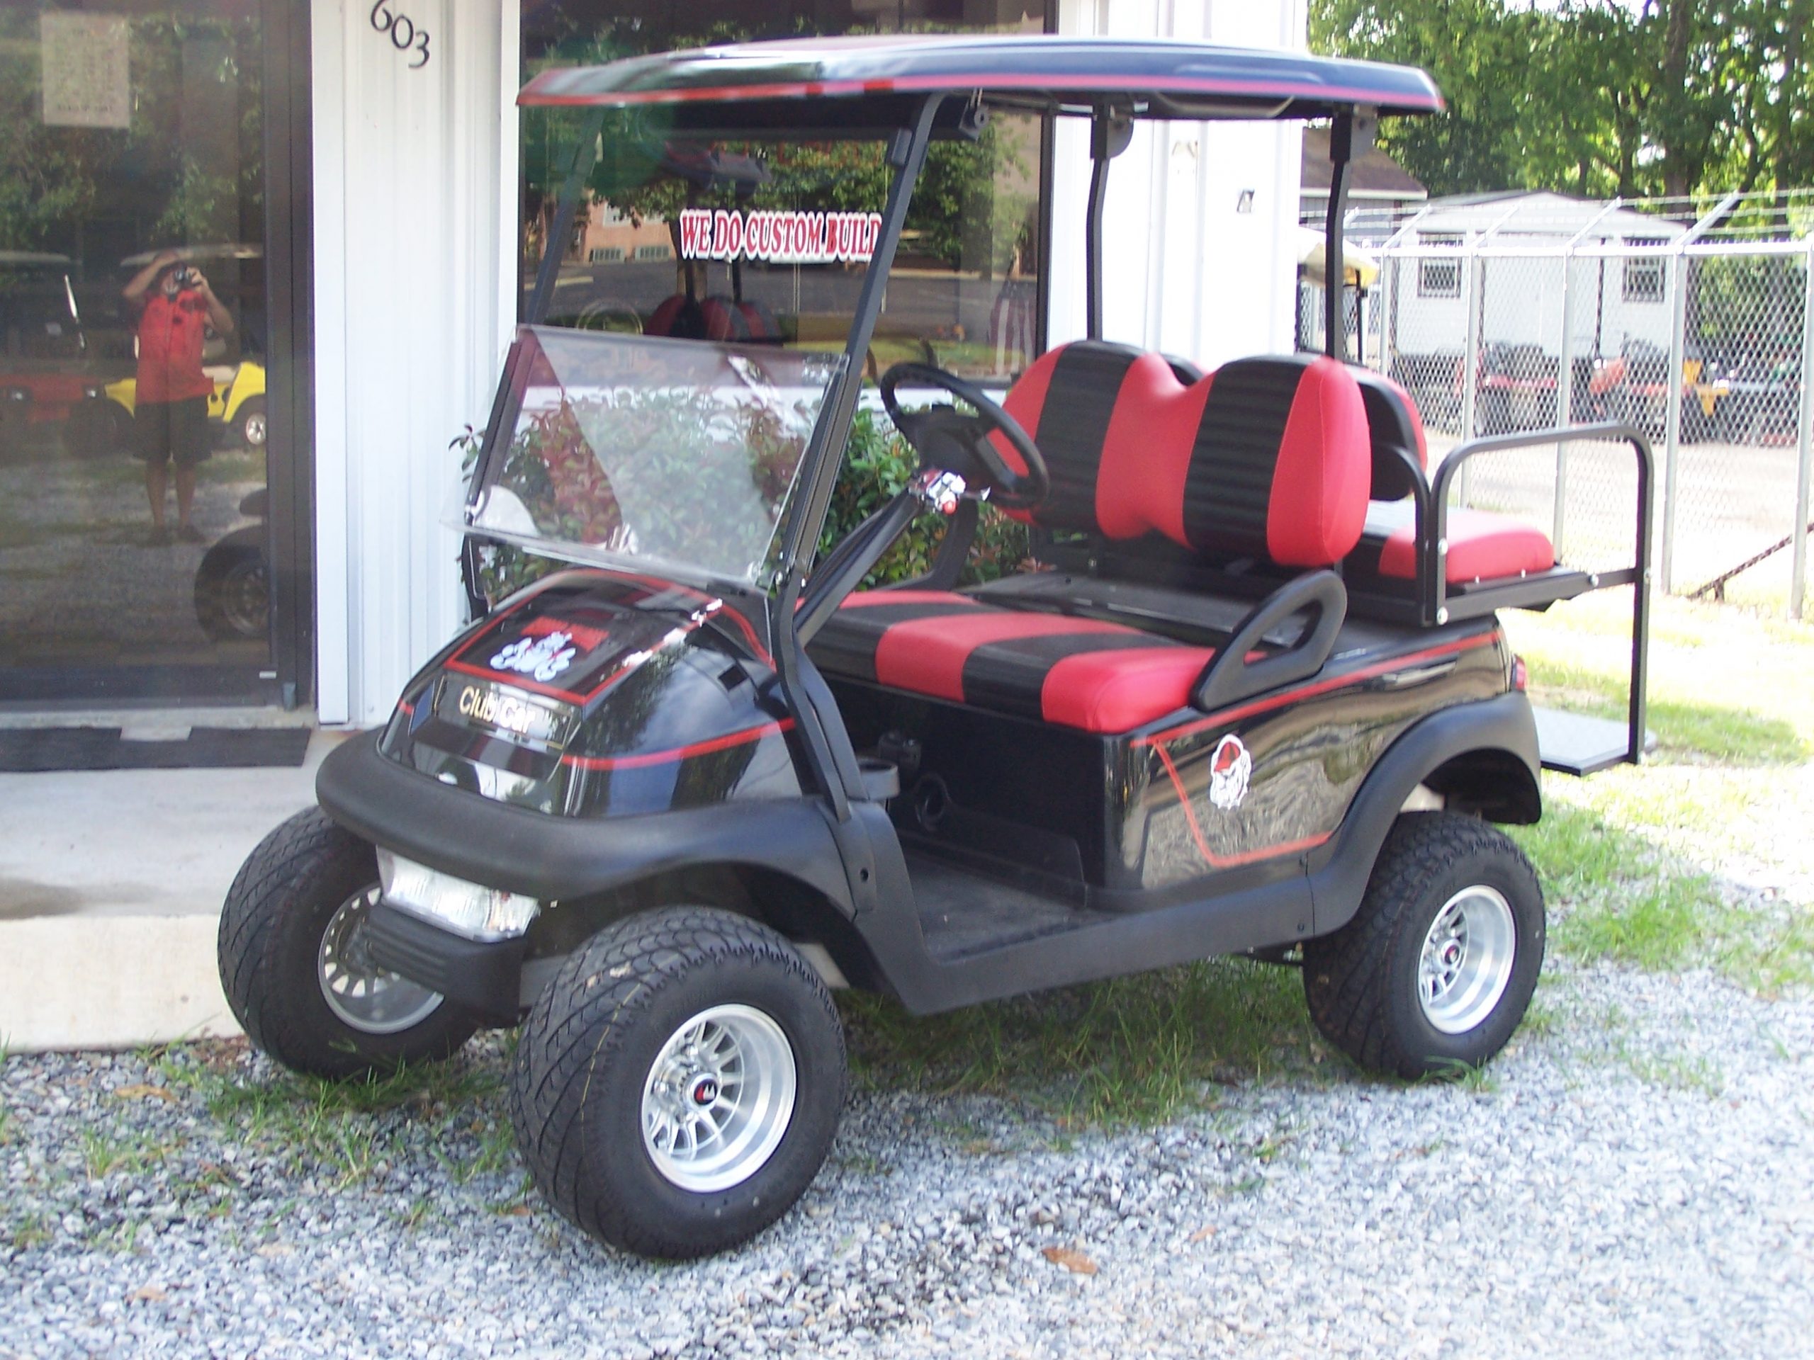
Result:
<svg viewBox="0 0 1814 1360"><path fill-rule="evenodd" d="M600 156L640 156L639 192L709 209L715 248L840 263L847 335L804 341L755 265L731 301L773 316L736 334L673 330L704 326L693 276L640 334L539 326L548 252L464 529L568 566L454 638L321 767L321 809L247 861L219 963L256 1044L354 1077L521 1025L535 1182L658 1257L740 1242L811 1182L845 1090L840 985L934 1012L1252 954L1301 963L1315 1023L1368 1068L1500 1050L1544 899L1491 825L1540 816L1495 609L1636 588L1631 724L1551 758L1638 760L1642 435L1573 435L1627 441L1640 470L1633 566L1593 575L1448 510L1468 459L1544 437L1455 450L1431 481L1417 412L1342 361L1339 316L1331 354L1214 374L1099 337L1103 196L1134 120L1331 120L1339 277L1346 163L1377 116L1440 109L1426 76L863 38L555 71L522 103L591 111L548 239ZM1000 404L923 363L882 372L922 470L816 557L927 149L998 111L1088 120L1090 334ZM767 149L800 141L865 149L814 163L885 167L882 212L746 214ZM1039 569L958 589L983 499L1030 526ZM929 510L929 571L858 589Z"/></svg>

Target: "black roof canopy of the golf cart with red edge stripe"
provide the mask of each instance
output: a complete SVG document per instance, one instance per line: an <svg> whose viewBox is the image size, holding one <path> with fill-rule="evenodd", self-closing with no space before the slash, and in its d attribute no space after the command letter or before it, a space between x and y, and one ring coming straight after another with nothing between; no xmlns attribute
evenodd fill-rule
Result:
<svg viewBox="0 0 1814 1360"><path fill-rule="evenodd" d="M789 131L836 100L838 125L900 127L927 94L1005 109L1136 118L1328 118L1348 109L1440 112L1413 67L1195 42L1058 34L804 38L698 47L542 71L524 107L660 107L675 131ZM958 100L951 103L961 109ZM941 123L954 121L958 109Z"/></svg>

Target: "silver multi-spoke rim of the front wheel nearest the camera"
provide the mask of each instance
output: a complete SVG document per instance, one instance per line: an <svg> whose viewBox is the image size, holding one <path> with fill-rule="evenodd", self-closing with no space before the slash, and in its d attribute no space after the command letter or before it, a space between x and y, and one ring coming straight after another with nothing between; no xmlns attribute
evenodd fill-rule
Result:
<svg viewBox="0 0 1814 1360"><path fill-rule="evenodd" d="M795 1090L793 1044L780 1025L755 1006L702 1010L649 1064L642 1146L680 1190L729 1190L775 1155Z"/></svg>

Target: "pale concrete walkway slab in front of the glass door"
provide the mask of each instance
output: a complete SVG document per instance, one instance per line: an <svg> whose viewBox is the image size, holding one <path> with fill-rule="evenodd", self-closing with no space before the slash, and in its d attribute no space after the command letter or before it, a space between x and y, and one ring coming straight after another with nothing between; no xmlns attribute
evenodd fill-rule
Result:
<svg viewBox="0 0 1814 1360"><path fill-rule="evenodd" d="M180 738L196 725L274 725L258 709L33 714ZM129 1048L236 1034L214 965L221 899L274 825L314 801L301 769L0 774L0 1046Z"/></svg>

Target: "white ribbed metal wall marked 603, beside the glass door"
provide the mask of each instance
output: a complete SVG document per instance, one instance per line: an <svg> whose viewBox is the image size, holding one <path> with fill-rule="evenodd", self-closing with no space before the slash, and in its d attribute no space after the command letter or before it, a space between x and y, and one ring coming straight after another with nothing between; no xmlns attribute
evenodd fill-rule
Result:
<svg viewBox="0 0 1814 1360"><path fill-rule="evenodd" d="M448 441L515 323L517 0L312 0L321 722L383 722L461 620ZM501 187L510 185L504 192Z"/></svg>

